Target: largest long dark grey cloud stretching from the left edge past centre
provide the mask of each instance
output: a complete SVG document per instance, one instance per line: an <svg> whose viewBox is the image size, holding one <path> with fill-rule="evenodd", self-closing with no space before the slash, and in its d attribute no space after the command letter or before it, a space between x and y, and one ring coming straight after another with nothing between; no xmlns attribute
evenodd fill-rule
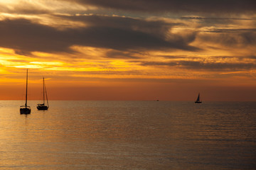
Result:
<svg viewBox="0 0 256 170"><path fill-rule="evenodd" d="M33 51L73 52L70 50L72 45L114 50L198 50L188 45L193 42L196 33L185 37L169 34L171 39L166 39L171 26L161 21L103 16L73 16L73 19L83 20L87 26L59 30L26 19L0 21L0 46L13 48L23 55Z"/></svg>

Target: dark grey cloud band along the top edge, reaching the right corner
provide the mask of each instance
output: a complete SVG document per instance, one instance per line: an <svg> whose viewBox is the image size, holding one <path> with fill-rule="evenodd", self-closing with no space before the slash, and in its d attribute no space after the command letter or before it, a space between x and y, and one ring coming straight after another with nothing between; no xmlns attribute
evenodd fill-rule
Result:
<svg viewBox="0 0 256 170"><path fill-rule="evenodd" d="M67 0L68 1L68 0ZM80 4L114 8L127 11L171 12L177 11L196 13L244 13L255 12L255 0L76 0Z"/></svg>

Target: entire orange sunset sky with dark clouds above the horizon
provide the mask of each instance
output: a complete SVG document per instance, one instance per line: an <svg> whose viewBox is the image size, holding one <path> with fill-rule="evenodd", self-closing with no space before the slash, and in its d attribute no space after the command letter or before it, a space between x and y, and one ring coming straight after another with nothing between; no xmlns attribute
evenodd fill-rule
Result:
<svg viewBox="0 0 256 170"><path fill-rule="evenodd" d="M0 0L0 100L256 101L253 0Z"/></svg>

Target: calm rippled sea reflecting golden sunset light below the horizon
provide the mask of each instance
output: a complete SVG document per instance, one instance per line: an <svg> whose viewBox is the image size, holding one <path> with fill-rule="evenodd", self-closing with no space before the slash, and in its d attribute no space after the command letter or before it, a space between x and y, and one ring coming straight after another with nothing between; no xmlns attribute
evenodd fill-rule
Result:
<svg viewBox="0 0 256 170"><path fill-rule="evenodd" d="M255 170L256 102L0 101L0 169Z"/></svg>

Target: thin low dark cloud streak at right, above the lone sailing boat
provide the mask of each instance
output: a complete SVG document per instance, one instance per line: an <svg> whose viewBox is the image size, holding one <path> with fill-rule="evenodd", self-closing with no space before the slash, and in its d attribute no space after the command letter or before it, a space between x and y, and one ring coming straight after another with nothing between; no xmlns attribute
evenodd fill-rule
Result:
<svg viewBox="0 0 256 170"><path fill-rule="evenodd" d="M144 66L168 66L178 67L181 69L197 69L197 70L212 70L223 71L228 70L244 70L256 67L256 63L228 63L228 62L201 62L201 61L177 61L177 62L141 62Z"/></svg>

